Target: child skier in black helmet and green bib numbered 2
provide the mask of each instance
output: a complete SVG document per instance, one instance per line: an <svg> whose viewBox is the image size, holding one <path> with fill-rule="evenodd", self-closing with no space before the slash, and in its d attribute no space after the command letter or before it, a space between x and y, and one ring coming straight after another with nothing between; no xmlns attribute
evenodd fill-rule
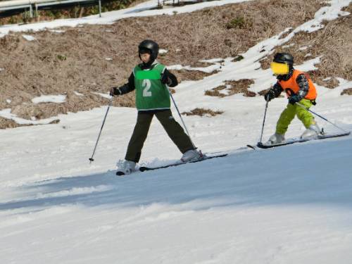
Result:
<svg viewBox="0 0 352 264"><path fill-rule="evenodd" d="M168 136L183 153L182 161L201 158L191 139L185 134L170 111L170 94L168 87L175 87L178 82L175 75L158 63L159 46L150 39L142 41L138 46L138 54L142 63L134 67L128 82L121 87L113 87L111 96L119 96L136 90L137 123L134 127L130 143L127 147L125 161L118 162L122 173L130 174L136 170L141 151L154 115L163 125Z"/></svg>

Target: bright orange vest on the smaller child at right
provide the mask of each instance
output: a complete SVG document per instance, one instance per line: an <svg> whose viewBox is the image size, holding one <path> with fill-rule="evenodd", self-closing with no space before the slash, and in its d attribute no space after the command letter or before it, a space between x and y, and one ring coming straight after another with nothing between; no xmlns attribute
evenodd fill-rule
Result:
<svg viewBox="0 0 352 264"><path fill-rule="evenodd" d="M304 98L308 100L314 100L315 98L317 98L317 89L315 89L315 86L312 80L310 80L308 74L301 72L301 70L294 70L294 73L292 74L291 78L289 78L289 80L279 80L278 82L281 85L282 89L284 89L284 92L286 92L287 96L291 96L292 92L296 94L299 91L299 86L296 82L296 79L300 74L304 74L306 76L309 84L308 92Z"/></svg>

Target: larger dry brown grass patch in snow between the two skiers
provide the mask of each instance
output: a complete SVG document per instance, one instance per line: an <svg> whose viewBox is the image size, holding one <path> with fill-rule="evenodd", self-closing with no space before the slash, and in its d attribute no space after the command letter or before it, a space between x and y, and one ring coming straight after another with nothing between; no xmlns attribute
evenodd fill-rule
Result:
<svg viewBox="0 0 352 264"><path fill-rule="evenodd" d="M215 87L211 90L206 91L204 94L208 96L232 96L234 94L244 94L246 97L254 97L256 96L255 92L251 92L248 90L249 86L253 84L253 80L242 79L238 81L226 81L225 85L220 85L219 87ZM225 94L223 94L222 90L226 90Z"/></svg>

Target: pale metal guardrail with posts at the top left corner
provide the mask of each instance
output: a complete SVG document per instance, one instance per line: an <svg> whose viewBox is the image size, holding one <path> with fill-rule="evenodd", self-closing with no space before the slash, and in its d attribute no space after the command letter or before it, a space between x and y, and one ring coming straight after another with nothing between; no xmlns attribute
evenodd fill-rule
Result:
<svg viewBox="0 0 352 264"><path fill-rule="evenodd" d="M0 1L0 18L5 16L13 15L18 13L19 10L30 11L30 18L38 16L39 9L49 9L47 7L55 6L75 6L75 5L86 5L94 6L99 4L99 17L101 17L101 0L11 0L11 1ZM8 15L1 15L1 13L7 13Z"/></svg>

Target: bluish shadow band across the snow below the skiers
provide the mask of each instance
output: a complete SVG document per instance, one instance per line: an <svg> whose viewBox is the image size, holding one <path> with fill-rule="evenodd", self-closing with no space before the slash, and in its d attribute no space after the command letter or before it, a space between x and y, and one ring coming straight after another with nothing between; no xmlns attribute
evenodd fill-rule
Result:
<svg viewBox="0 0 352 264"><path fill-rule="evenodd" d="M35 182L0 210L51 206L352 206L352 139L307 142L117 177L105 172ZM28 198L25 198L28 197Z"/></svg>

